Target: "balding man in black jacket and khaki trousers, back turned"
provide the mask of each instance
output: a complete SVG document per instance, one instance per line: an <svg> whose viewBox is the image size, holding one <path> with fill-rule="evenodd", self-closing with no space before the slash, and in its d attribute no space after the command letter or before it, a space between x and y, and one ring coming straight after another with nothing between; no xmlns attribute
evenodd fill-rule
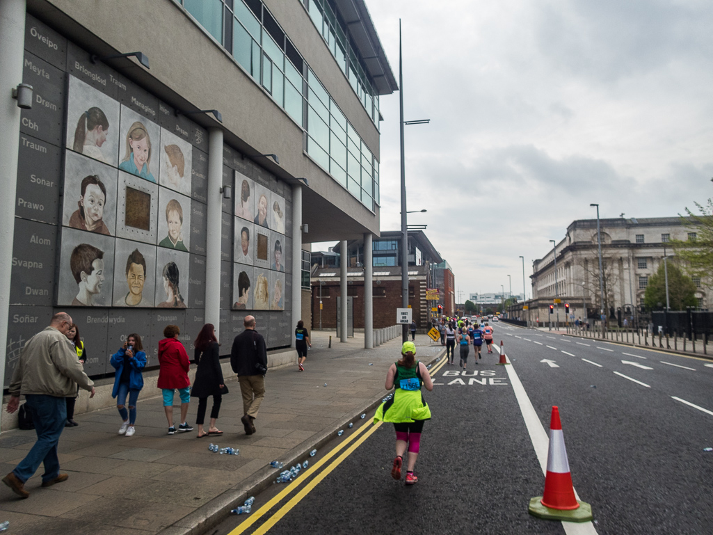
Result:
<svg viewBox="0 0 713 535"><path fill-rule="evenodd" d="M245 330L235 337L230 351L230 367L237 373L242 394L240 418L245 434L255 432L255 418L265 397L265 372L267 372L267 346L265 338L255 331L255 317L245 316Z"/></svg>

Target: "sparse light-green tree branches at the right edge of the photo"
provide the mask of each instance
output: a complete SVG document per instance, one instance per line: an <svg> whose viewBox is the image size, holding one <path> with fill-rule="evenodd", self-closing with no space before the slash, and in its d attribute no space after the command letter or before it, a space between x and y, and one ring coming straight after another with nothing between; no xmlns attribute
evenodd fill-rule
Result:
<svg viewBox="0 0 713 535"><path fill-rule="evenodd" d="M713 272L713 199L708 199L707 205L695 203L701 215L695 215L686 208L688 217L681 216L684 225L695 233L695 238L688 241L672 240L676 254L688 265L692 275L707 280L710 285L710 275Z"/></svg>

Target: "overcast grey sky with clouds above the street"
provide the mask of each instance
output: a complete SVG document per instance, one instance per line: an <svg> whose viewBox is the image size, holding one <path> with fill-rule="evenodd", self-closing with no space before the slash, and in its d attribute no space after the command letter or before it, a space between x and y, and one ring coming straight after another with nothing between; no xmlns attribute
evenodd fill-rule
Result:
<svg viewBox="0 0 713 535"><path fill-rule="evenodd" d="M713 2L366 0L399 78L409 224L463 300L523 290L573 220L713 196ZM400 220L399 93L381 97L381 230ZM529 278L525 282L531 296ZM458 295L456 295L458 300Z"/></svg>

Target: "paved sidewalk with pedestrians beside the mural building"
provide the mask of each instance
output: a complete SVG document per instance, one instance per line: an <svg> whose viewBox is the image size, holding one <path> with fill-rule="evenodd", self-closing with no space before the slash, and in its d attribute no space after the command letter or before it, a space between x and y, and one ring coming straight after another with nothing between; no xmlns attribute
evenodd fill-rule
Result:
<svg viewBox="0 0 713 535"><path fill-rule="evenodd" d="M0 485L0 522L10 521L8 533L13 535L201 533L247 495L271 484L279 472L271 461L294 464L384 397L386 370L399 358L400 337L364 350L359 332L345 343L334 332L310 335L305 372L297 372L295 365L267 373L265 401L252 436L245 435L240 423L242 399L235 377L225 378L230 394L223 397L217 421L225 432L222 437L196 439L197 428L168 436L158 389L156 397L138 402L133 437L117 434L121 419L116 407L81 414L76 417L79 426L66 428L59 442L61 472L69 479L43 489L40 467L25 485L28 499ZM416 336L416 346L417 358L426 363L443 350L426 335ZM197 407L193 398L191 424ZM210 414L210 399L208 407ZM179 418L175 405L174 419ZM35 439L34 431L19 429L0 435L2 476ZM212 453L210 442L237 447L240 455Z"/></svg>

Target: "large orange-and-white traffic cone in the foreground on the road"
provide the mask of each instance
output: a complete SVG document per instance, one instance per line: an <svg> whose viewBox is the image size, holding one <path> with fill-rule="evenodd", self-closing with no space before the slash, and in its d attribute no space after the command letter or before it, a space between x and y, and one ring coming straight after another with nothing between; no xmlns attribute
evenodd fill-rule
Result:
<svg viewBox="0 0 713 535"><path fill-rule="evenodd" d="M547 455L545 493L530 500L530 514L541 519L587 522L592 519L592 506L575 496L570 463L565 449L565 437L560 422L560 410L552 407L550 448Z"/></svg>

